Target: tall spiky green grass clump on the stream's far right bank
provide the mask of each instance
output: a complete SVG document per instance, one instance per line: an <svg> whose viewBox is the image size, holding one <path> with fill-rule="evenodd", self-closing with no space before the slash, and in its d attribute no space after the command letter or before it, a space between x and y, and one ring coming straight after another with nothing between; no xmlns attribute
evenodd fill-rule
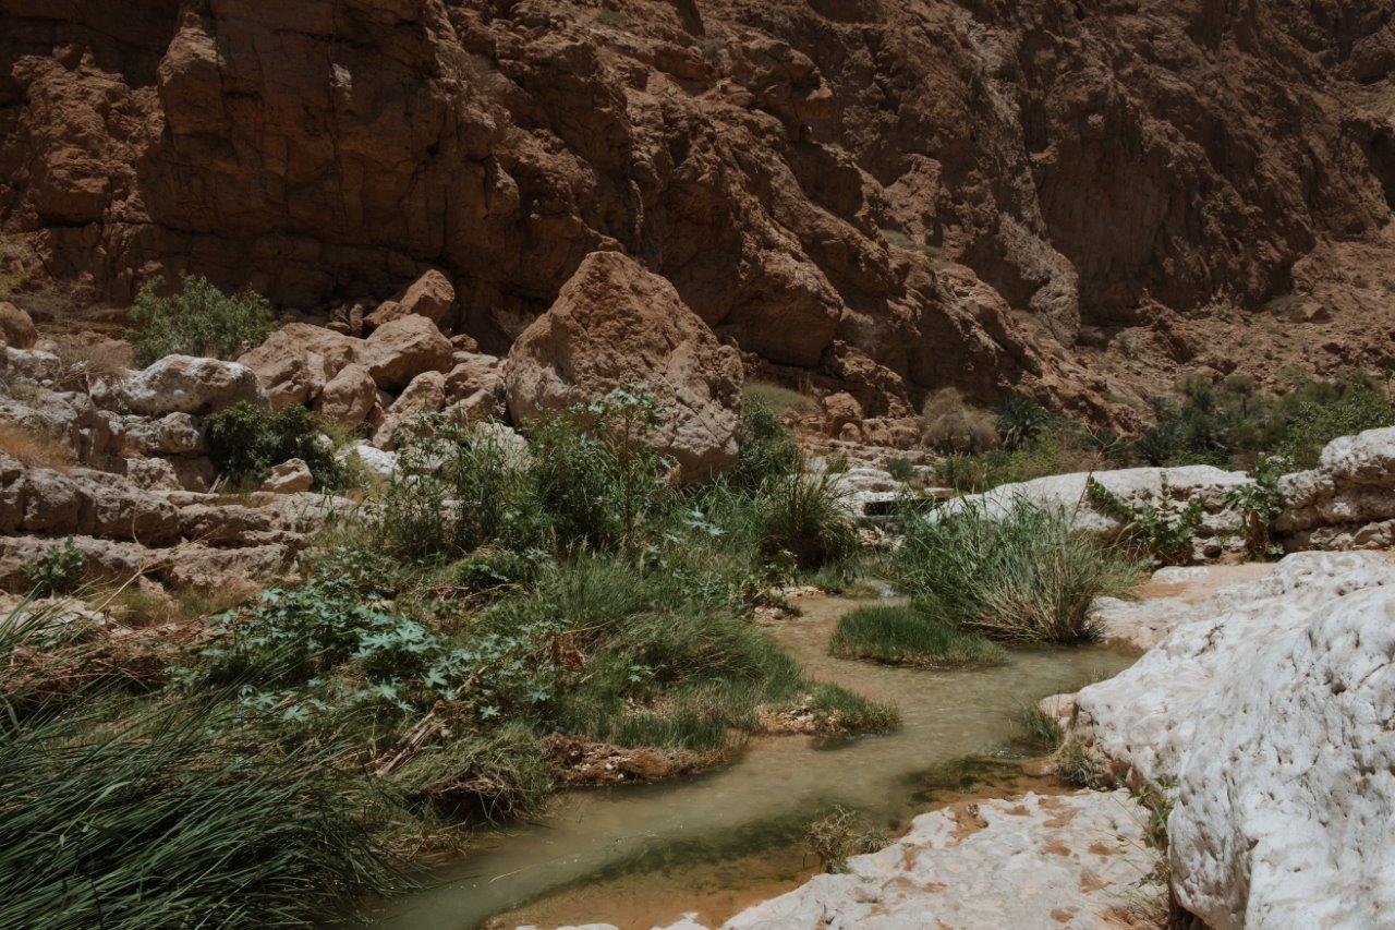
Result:
<svg viewBox="0 0 1395 930"><path fill-rule="evenodd" d="M1016 644L1095 638L1094 599L1124 593L1141 571L1063 508L1024 499L999 515L972 503L908 514L891 568L930 620Z"/></svg>

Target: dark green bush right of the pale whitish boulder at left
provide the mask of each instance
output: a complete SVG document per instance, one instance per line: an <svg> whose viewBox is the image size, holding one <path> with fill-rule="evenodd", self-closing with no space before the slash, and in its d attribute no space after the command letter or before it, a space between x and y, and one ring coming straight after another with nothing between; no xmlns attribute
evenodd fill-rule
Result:
<svg viewBox="0 0 1395 930"><path fill-rule="evenodd" d="M205 420L208 457L234 486L257 485L272 466L299 458L310 466L318 487L338 487L343 469L319 434L314 415L300 405L276 413L248 401Z"/></svg>

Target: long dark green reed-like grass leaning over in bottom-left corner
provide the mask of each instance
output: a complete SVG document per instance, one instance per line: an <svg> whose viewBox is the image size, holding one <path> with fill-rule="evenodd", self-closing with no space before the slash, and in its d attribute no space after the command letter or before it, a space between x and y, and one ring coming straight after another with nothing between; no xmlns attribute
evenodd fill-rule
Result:
<svg viewBox="0 0 1395 930"><path fill-rule="evenodd" d="M0 621L0 659L42 647ZM227 702L89 687L0 698L0 926L311 926L402 885L392 810L328 743L283 753Z"/></svg>

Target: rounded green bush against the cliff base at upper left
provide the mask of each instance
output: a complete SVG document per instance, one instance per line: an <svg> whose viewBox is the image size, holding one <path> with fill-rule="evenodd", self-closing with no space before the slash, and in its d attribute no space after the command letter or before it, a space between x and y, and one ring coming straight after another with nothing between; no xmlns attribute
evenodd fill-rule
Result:
<svg viewBox="0 0 1395 930"><path fill-rule="evenodd" d="M126 338L142 367L166 355L236 359L271 335L271 304L259 295L227 296L199 275L186 275L172 297L159 296L163 286L149 281L131 307Z"/></svg>

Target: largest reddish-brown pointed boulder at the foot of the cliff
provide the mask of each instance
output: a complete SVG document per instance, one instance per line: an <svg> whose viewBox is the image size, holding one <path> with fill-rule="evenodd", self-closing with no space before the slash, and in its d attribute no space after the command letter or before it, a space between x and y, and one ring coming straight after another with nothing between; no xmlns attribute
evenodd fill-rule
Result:
<svg viewBox="0 0 1395 930"><path fill-rule="evenodd" d="M515 423L644 384L664 408L657 445L685 480L735 464L741 381L737 350L717 342L672 285L615 251L582 261L505 366Z"/></svg>

